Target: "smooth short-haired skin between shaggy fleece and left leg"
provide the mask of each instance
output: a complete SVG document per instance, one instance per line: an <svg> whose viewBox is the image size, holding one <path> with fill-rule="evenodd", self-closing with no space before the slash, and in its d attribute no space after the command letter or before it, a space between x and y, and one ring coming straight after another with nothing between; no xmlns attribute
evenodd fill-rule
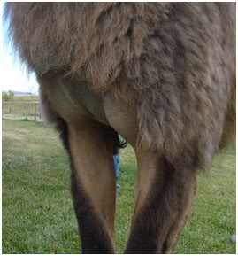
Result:
<svg viewBox="0 0 238 256"><path fill-rule="evenodd" d="M86 84L58 76L40 78L39 81L42 92L67 123L79 125L89 118L108 125L102 97L90 91Z"/></svg>

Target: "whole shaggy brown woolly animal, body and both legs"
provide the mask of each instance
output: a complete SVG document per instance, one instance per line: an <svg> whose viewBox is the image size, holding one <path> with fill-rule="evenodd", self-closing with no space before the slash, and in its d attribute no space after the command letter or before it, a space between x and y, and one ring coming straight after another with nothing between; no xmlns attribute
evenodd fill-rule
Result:
<svg viewBox="0 0 238 256"><path fill-rule="evenodd" d="M137 159L125 253L172 253L199 169L235 137L235 3L8 3L72 167L82 252L114 253L118 135Z"/></svg>

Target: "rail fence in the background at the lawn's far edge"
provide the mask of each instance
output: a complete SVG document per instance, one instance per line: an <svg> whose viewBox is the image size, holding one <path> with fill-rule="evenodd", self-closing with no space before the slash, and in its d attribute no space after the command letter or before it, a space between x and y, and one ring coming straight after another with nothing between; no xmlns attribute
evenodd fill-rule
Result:
<svg viewBox="0 0 238 256"><path fill-rule="evenodd" d="M10 120L42 121L42 108L35 102L3 102L2 118Z"/></svg>

